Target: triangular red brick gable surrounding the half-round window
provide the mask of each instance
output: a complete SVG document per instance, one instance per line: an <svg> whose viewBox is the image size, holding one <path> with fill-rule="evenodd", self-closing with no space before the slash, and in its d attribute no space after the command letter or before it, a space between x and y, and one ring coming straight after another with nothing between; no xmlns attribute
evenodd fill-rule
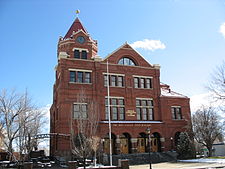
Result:
<svg viewBox="0 0 225 169"><path fill-rule="evenodd" d="M148 63L141 54L139 54L135 49L133 49L128 43L125 43L117 50L109 54L103 62L108 60L111 64L118 64L120 59L122 58L129 58L131 59L136 66L141 67L153 67L150 63Z"/></svg>

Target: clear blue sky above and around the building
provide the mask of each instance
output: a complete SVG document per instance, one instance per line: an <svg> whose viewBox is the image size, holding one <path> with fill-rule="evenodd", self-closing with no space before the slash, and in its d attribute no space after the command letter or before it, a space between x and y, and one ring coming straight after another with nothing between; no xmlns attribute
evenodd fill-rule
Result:
<svg viewBox="0 0 225 169"><path fill-rule="evenodd" d="M126 41L158 40L155 50L136 49L189 97L207 92L225 60L225 0L1 0L0 90L28 89L39 106L52 103L58 38L76 9L103 58Z"/></svg>

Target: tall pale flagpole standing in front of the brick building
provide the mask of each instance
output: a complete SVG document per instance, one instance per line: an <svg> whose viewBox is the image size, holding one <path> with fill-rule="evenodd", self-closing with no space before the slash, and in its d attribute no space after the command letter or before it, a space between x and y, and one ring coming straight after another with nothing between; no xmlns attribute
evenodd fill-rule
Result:
<svg viewBox="0 0 225 169"><path fill-rule="evenodd" d="M108 95L108 119L109 119L109 161L112 166L112 128L111 128L111 112L110 112L110 98L109 98L109 62L107 59L107 95Z"/></svg>

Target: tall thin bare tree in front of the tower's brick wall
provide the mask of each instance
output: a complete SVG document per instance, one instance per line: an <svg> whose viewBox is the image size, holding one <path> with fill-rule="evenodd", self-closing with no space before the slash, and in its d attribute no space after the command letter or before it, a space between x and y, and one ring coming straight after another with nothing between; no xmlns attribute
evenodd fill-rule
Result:
<svg viewBox="0 0 225 169"><path fill-rule="evenodd" d="M81 89L71 114L71 150L72 154L83 159L84 168L86 158L96 149L98 123L97 103L90 101Z"/></svg>

